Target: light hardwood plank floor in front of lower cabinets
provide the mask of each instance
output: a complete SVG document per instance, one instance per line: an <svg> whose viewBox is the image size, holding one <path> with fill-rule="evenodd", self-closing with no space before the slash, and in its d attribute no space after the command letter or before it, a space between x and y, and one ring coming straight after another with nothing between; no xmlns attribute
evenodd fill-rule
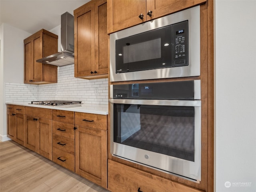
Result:
<svg viewBox="0 0 256 192"><path fill-rule="evenodd" d="M108 192L10 140L0 142L0 192Z"/></svg>

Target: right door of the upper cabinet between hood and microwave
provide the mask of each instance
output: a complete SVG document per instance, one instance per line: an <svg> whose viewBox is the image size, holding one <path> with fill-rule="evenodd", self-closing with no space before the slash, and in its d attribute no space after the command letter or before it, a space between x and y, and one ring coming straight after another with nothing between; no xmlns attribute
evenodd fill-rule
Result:
<svg viewBox="0 0 256 192"><path fill-rule="evenodd" d="M108 74L107 2L95 2L95 71Z"/></svg>

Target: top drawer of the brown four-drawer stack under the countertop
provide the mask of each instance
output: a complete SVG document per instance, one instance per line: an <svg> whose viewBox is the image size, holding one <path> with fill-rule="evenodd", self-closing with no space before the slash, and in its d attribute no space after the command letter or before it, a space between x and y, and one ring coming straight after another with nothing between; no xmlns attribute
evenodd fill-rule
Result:
<svg viewBox="0 0 256 192"><path fill-rule="evenodd" d="M74 112L52 110L52 120L74 124Z"/></svg>

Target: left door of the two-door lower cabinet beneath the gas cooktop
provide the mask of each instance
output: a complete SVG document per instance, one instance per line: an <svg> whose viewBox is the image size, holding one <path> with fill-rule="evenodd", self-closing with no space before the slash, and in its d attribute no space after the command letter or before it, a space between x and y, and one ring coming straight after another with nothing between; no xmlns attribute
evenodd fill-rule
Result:
<svg viewBox="0 0 256 192"><path fill-rule="evenodd" d="M37 146L37 131L38 131L38 118L26 116L25 121L25 147L30 150L36 151Z"/></svg>

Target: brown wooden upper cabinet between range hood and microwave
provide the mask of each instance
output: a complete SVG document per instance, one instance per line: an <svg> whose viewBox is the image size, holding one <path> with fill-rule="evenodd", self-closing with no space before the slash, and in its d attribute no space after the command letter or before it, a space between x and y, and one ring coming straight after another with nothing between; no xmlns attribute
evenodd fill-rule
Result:
<svg viewBox="0 0 256 192"><path fill-rule="evenodd" d="M92 0L74 10L75 77L108 77L106 0Z"/></svg>

